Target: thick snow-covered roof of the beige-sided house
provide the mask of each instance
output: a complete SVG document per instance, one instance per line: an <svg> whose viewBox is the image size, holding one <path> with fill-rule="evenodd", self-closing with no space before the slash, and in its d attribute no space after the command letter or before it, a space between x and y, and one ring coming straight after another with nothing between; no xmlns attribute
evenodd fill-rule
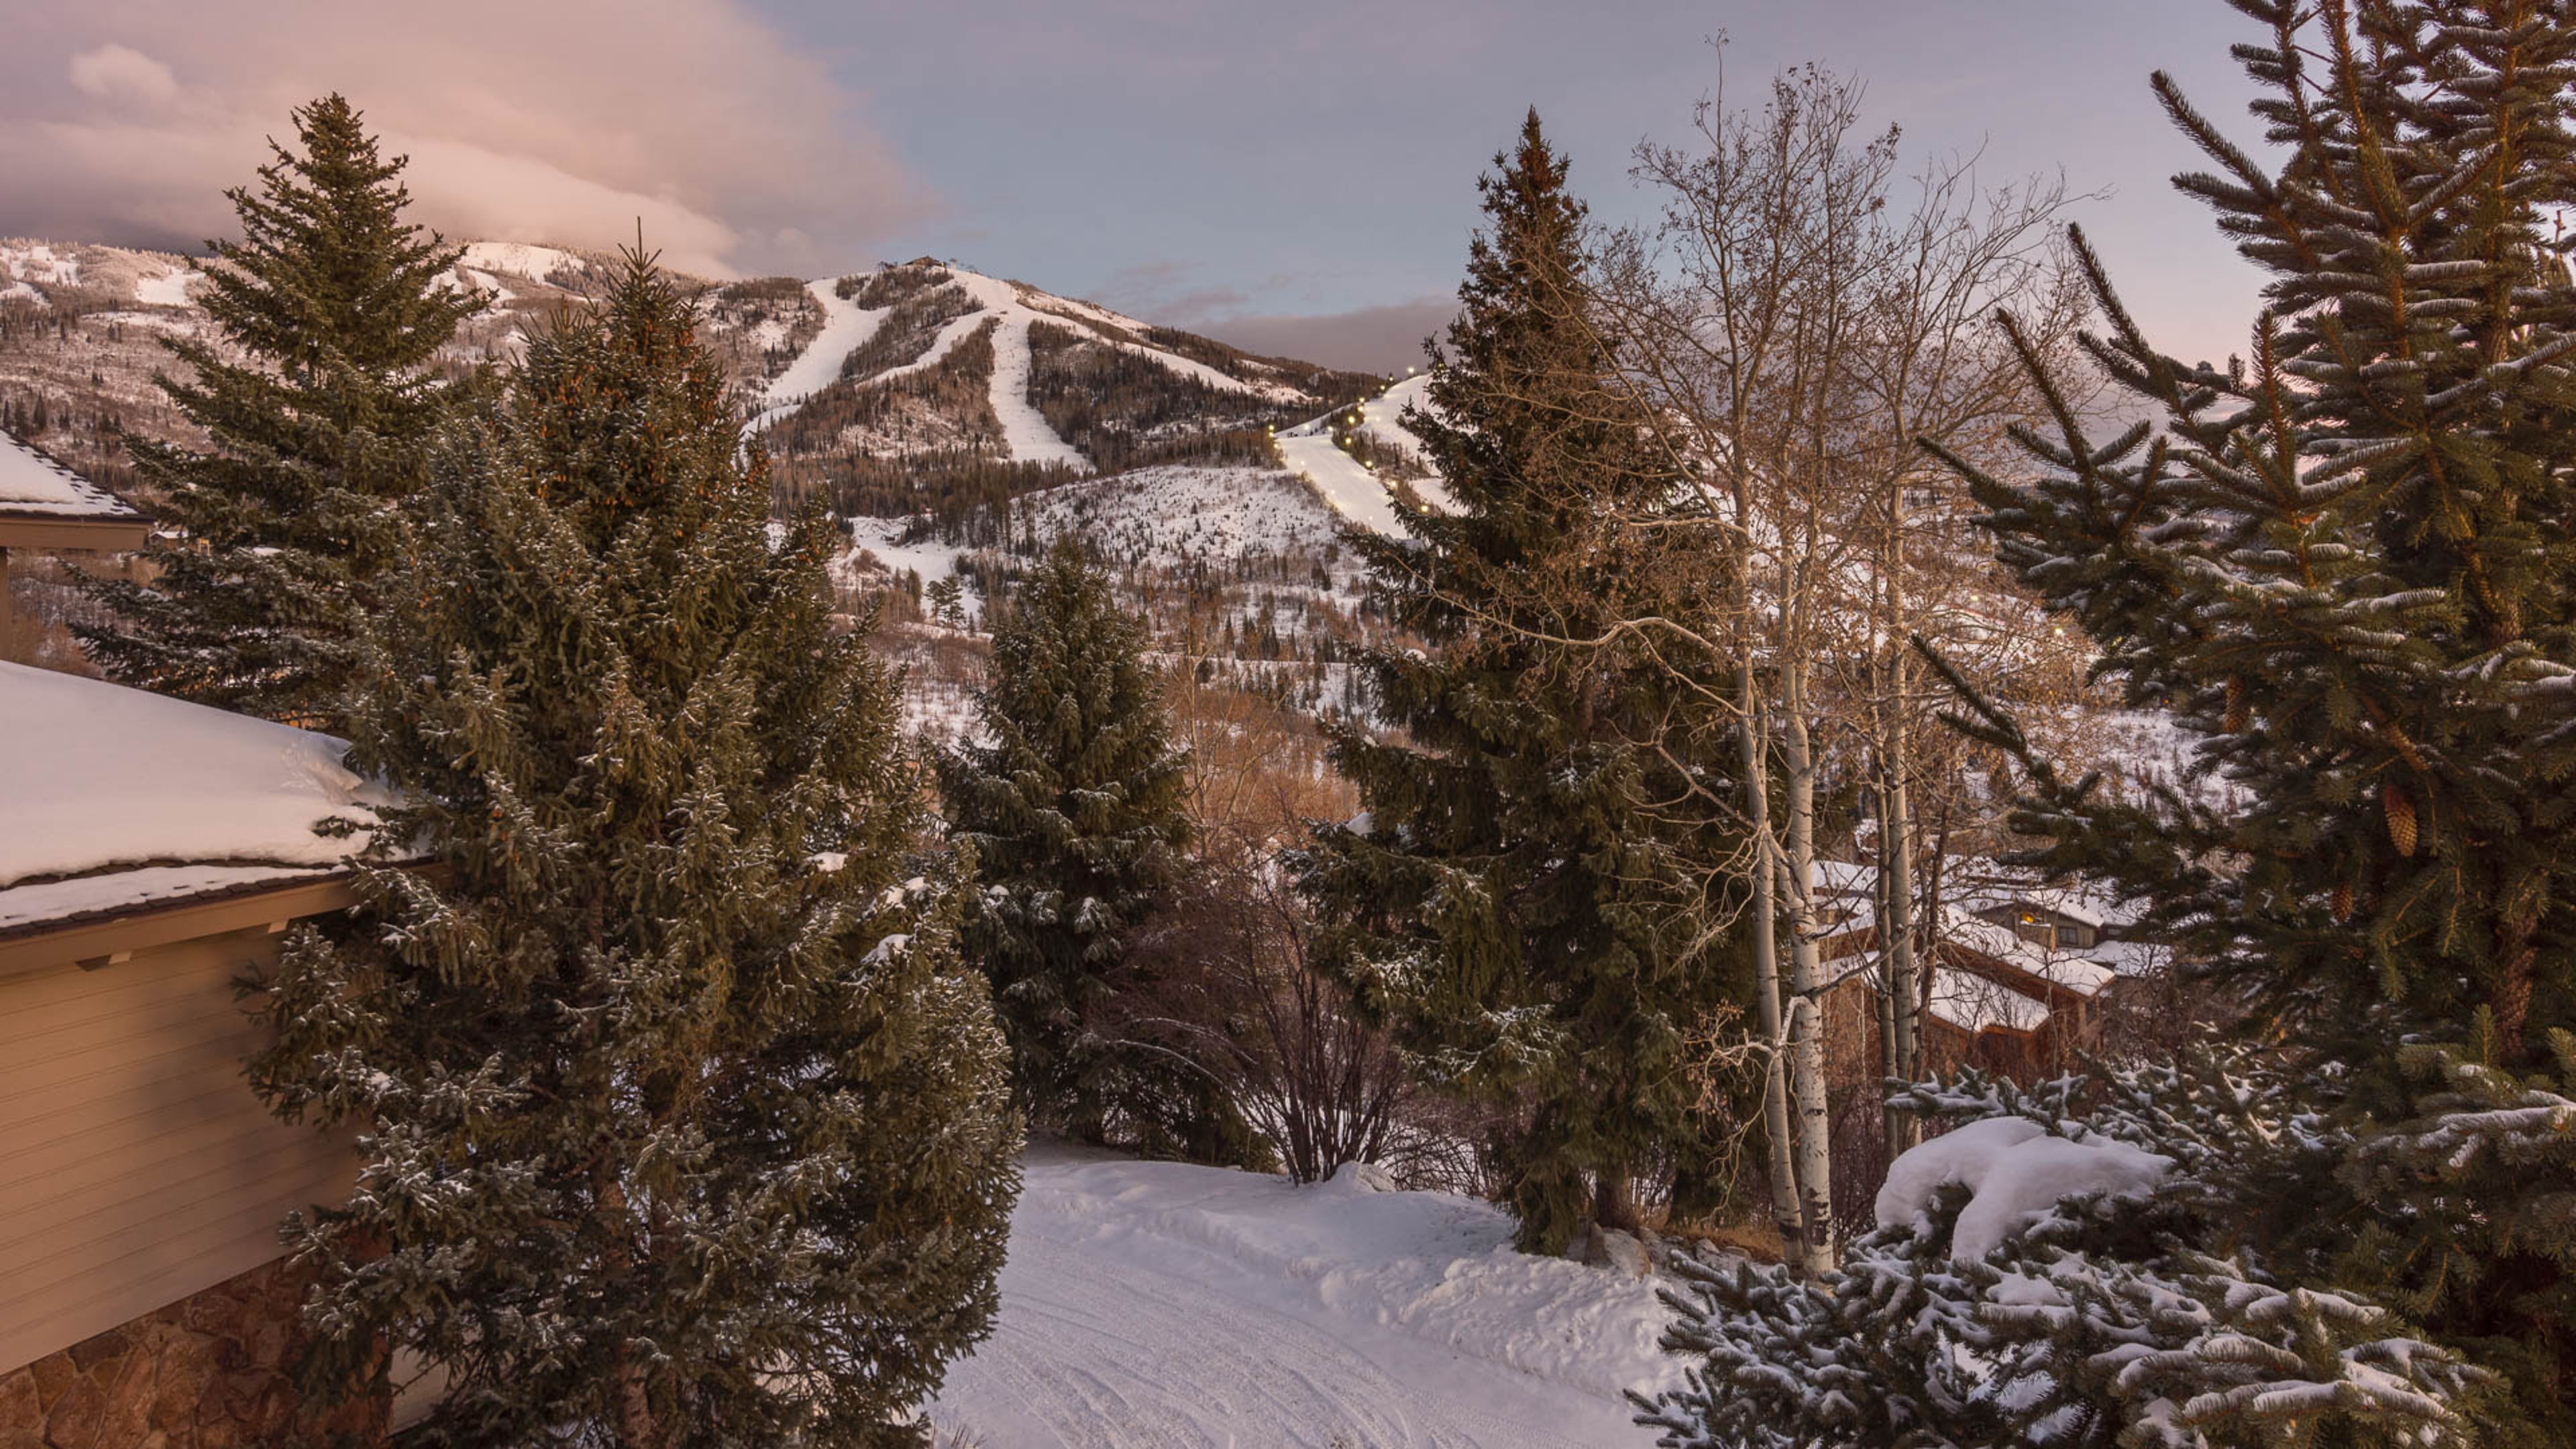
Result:
<svg viewBox="0 0 2576 1449"><path fill-rule="evenodd" d="M386 799L330 735L0 663L0 931L345 864Z"/></svg>

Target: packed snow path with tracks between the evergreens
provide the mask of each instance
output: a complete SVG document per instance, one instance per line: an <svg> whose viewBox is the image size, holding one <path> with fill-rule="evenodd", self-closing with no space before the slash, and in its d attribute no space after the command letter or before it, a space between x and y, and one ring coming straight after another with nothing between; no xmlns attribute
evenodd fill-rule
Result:
<svg viewBox="0 0 2576 1449"><path fill-rule="evenodd" d="M984 1449L1636 1444L1654 1287L1450 1194L1033 1147L994 1336L930 1418Z"/></svg>

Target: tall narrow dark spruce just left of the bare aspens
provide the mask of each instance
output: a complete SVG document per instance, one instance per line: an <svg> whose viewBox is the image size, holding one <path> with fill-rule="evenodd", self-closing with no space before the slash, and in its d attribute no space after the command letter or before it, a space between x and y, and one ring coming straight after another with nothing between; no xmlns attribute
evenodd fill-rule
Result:
<svg viewBox="0 0 2576 1449"><path fill-rule="evenodd" d="M1674 910L1687 861L1649 810L1682 797L1641 745L1674 676L1595 642L1649 572L1631 523L1677 480L1607 382L1584 206L1535 111L1494 165L1430 410L1406 418L1453 503L1401 511L1412 539L1352 536L1430 647L1358 657L1401 735L1332 727L1368 817L1321 830L1303 874L1347 923L1337 969L1417 1067L1525 1106L1492 1147L1520 1243L1553 1250L1587 1220L1636 1227L1636 1178L1700 1158L1682 1034L1744 982Z"/></svg>

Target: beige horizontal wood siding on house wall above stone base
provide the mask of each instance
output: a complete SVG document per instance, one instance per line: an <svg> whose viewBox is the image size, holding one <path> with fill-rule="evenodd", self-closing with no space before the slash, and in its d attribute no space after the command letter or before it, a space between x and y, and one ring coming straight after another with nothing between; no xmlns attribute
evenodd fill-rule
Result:
<svg viewBox="0 0 2576 1449"><path fill-rule="evenodd" d="M263 1029L232 980L276 949L234 931L0 980L0 1372L276 1258L291 1209L348 1196L348 1134L242 1083Z"/></svg>

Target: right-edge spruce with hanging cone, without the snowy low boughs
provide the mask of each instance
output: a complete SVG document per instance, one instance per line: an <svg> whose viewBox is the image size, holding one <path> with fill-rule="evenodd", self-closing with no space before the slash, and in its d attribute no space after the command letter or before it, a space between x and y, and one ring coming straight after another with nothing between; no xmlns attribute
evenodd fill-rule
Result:
<svg viewBox="0 0 2576 1449"><path fill-rule="evenodd" d="M2450 1093L2421 1049L2512 1078L2576 1029L2576 8L2239 8L2272 28L2239 57L2287 157L2156 93L2218 168L2177 183L2272 276L2251 358L2159 353L2084 250L2089 351L2164 428L2097 441L2061 402L2020 438L2038 477L1963 472L2097 676L2241 804L2117 807L1991 709L1976 730L2030 763L2043 866L2148 900L2257 1024L2349 1070L2321 1109L2416 1119ZM2512 1364L2543 1441L2576 1436L2576 1142L2478 1178L2496 1196L2365 1181L2249 1204L2251 1230Z"/></svg>

